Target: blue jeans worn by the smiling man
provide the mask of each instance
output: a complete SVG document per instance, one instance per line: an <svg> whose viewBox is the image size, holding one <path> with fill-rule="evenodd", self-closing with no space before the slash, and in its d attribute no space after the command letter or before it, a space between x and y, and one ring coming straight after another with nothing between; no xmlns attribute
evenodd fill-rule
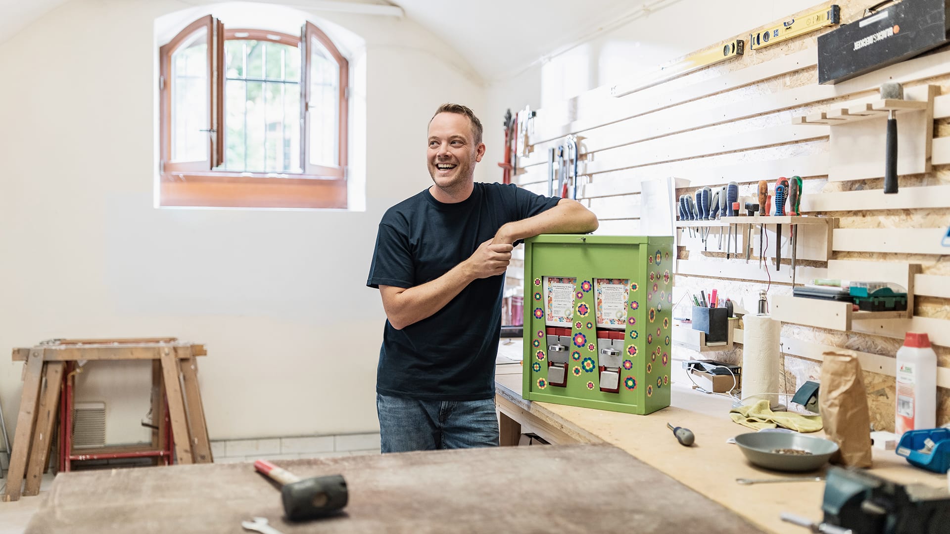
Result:
<svg viewBox="0 0 950 534"><path fill-rule="evenodd" d="M498 447L495 399L414 400L376 393L383 452Z"/></svg>

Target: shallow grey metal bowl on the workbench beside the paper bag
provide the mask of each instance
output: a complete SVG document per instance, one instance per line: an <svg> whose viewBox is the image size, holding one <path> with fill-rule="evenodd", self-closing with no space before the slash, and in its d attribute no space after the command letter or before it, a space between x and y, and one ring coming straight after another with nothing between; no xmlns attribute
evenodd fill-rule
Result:
<svg viewBox="0 0 950 534"><path fill-rule="evenodd" d="M825 438L816 438L799 433L750 432L735 436L735 444L742 449L750 463L777 471L813 471L822 467L838 444ZM782 454L780 448L805 450L810 454Z"/></svg>

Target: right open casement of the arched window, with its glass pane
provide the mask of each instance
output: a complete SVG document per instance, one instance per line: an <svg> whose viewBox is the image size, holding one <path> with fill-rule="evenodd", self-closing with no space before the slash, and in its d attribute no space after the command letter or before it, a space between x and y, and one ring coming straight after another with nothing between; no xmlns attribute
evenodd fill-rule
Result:
<svg viewBox="0 0 950 534"><path fill-rule="evenodd" d="M347 164L348 63L312 23L303 27L301 106L305 174L344 178Z"/></svg>

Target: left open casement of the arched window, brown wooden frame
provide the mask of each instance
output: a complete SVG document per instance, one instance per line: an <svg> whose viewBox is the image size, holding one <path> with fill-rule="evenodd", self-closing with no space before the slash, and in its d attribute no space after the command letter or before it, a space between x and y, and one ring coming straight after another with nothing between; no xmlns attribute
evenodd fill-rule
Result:
<svg viewBox="0 0 950 534"><path fill-rule="evenodd" d="M224 28L211 15L161 47L162 172L208 171L223 161Z"/></svg>

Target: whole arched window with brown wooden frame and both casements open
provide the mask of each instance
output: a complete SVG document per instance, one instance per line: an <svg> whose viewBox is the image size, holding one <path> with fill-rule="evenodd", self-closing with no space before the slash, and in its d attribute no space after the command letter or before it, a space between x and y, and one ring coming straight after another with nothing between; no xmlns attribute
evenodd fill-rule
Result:
<svg viewBox="0 0 950 534"><path fill-rule="evenodd" d="M320 29L208 15L160 55L160 205L347 207L348 64Z"/></svg>

